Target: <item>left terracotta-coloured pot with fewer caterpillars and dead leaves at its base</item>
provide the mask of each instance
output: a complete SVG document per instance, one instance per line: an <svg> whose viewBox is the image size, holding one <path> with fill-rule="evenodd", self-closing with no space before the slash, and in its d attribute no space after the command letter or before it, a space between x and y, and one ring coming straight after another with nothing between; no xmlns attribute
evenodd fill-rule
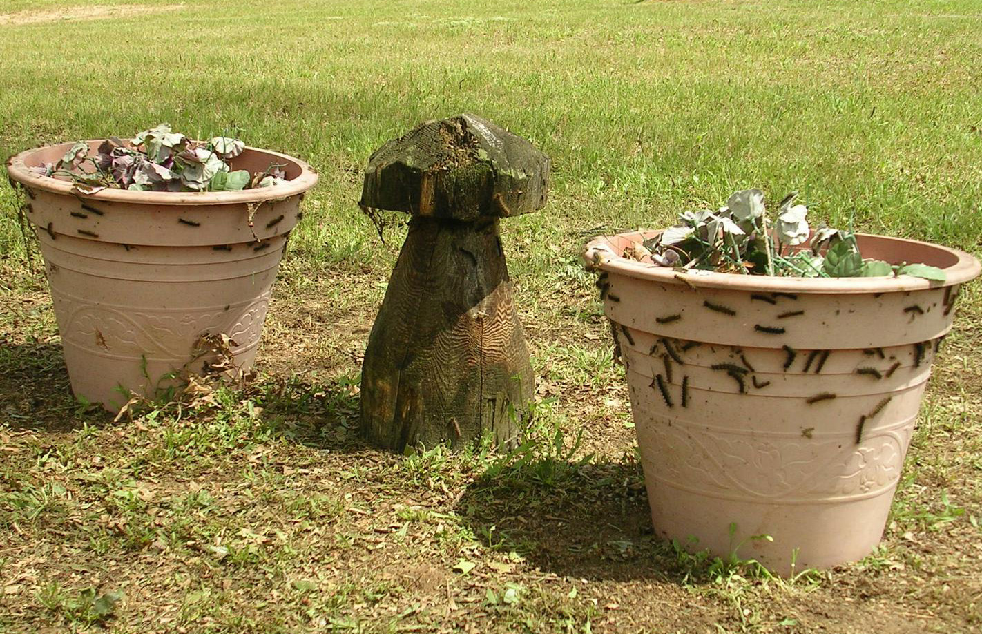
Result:
<svg viewBox="0 0 982 634"><path fill-rule="evenodd" d="M76 396L109 410L131 392L158 396L208 335L227 335L236 367L249 368L300 199L317 175L295 158L253 148L232 169L286 164L288 183L79 195L70 182L27 169L57 162L71 145L27 150L7 170L27 193Z"/></svg>

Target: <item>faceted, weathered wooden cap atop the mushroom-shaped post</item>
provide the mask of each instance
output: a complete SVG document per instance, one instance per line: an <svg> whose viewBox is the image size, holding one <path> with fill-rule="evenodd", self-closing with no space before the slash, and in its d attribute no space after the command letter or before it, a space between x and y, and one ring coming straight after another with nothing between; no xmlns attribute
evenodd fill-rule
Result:
<svg viewBox="0 0 982 634"><path fill-rule="evenodd" d="M368 160L361 204L472 221L541 209L549 157L474 115L428 121Z"/></svg>

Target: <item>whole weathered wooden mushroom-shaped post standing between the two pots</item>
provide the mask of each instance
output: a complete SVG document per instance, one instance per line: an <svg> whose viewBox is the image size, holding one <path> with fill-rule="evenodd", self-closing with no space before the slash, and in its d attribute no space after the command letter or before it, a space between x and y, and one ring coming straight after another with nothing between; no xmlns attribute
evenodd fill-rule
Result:
<svg viewBox="0 0 982 634"><path fill-rule="evenodd" d="M426 122L372 154L361 205L412 218L361 371L371 443L516 438L534 377L498 224L541 208L548 188L547 156L473 115Z"/></svg>

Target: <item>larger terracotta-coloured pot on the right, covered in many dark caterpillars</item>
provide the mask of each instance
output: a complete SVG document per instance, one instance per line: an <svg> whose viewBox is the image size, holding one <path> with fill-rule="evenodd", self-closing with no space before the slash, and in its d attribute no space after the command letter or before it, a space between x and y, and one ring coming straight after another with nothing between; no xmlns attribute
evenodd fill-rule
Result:
<svg viewBox="0 0 982 634"><path fill-rule="evenodd" d="M584 253L607 275L656 532L781 574L868 555L978 260L858 237L866 257L943 268L938 284L681 274L622 256L656 233L597 238Z"/></svg>

